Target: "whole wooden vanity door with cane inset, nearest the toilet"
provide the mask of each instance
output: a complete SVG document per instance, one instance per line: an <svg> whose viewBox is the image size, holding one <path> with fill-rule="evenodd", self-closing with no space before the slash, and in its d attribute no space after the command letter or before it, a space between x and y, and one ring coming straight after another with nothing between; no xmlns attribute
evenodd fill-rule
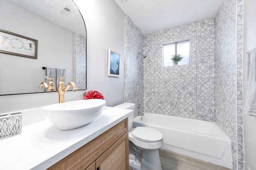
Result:
<svg viewBox="0 0 256 170"><path fill-rule="evenodd" d="M124 134L106 152L96 159L97 170L128 170L129 169L129 138Z"/></svg>

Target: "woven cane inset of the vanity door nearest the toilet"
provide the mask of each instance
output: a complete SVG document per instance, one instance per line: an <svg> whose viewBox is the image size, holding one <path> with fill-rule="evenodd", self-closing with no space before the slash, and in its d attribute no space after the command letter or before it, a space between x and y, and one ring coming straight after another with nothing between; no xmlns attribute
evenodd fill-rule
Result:
<svg viewBox="0 0 256 170"><path fill-rule="evenodd" d="M126 169L126 141L113 150L101 163L100 170L125 170Z"/></svg>

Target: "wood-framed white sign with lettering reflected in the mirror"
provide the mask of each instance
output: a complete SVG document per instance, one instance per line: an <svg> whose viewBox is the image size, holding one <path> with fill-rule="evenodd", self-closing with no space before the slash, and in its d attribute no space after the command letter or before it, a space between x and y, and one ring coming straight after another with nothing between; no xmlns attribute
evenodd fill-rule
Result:
<svg viewBox="0 0 256 170"><path fill-rule="evenodd" d="M37 40L0 30L0 53L37 59Z"/></svg>

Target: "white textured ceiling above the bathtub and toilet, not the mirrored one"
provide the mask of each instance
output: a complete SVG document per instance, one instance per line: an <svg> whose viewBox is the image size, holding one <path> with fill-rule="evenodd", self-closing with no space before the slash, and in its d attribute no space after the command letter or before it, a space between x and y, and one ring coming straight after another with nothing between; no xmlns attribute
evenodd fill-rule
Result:
<svg viewBox="0 0 256 170"><path fill-rule="evenodd" d="M215 17L223 0L115 0L142 34Z"/></svg>

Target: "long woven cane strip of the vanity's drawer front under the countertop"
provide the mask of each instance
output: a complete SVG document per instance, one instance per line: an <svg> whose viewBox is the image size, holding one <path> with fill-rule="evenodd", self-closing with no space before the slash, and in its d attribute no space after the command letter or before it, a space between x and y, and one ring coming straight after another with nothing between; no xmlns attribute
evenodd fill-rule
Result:
<svg viewBox="0 0 256 170"><path fill-rule="evenodd" d="M85 144L78 150L74 151L72 154L58 162L50 170L71 170L76 165L78 165L82 160L87 158L90 154L92 154L95 150L97 150L100 146L105 144L108 140L114 137L118 132L122 129L126 128L126 122L122 121L116 126L110 128L94 140L90 141L89 143Z"/></svg>

